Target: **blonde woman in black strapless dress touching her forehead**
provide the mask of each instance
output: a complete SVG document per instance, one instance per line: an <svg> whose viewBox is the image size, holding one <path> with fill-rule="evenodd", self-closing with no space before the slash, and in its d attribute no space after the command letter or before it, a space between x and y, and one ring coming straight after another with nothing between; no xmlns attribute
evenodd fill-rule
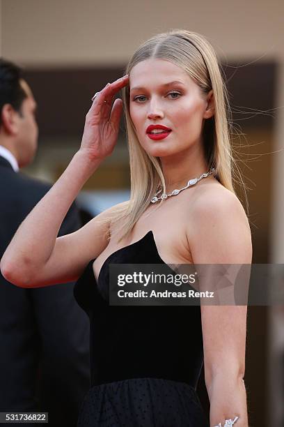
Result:
<svg viewBox="0 0 284 427"><path fill-rule="evenodd" d="M112 105L120 89L123 101ZM126 75L96 94L79 151L3 255L2 274L17 286L77 280L92 364L80 426L207 426L196 394L203 357L210 426L248 426L246 306L107 301L109 264L251 263L248 220L232 187L226 99L203 36L173 30L150 38ZM79 190L113 151L123 106L130 200L56 238Z"/></svg>

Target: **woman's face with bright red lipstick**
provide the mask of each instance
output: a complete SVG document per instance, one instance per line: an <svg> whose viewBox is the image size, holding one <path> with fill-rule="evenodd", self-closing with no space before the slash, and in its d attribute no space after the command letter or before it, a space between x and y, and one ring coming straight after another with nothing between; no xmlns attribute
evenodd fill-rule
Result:
<svg viewBox="0 0 284 427"><path fill-rule="evenodd" d="M150 155L170 156L200 144L203 120L213 112L182 68L164 59L146 59L132 68L129 89L130 116L141 146ZM170 131L159 134L161 130L148 129L150 125Z"/></svg>

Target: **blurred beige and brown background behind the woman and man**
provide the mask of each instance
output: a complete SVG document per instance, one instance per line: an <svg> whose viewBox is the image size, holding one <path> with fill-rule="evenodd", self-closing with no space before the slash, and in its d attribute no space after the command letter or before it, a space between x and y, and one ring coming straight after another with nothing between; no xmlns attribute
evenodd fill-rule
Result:
<svg viewBox="0 0 284 427"><path fill-rule="evenodd" d="M79 149L90 98L123 75L144 40L168 29L196 31L214 46L228 84L253 262L283 264L283 15L281 0L2 0L0 54L24 67L38 103L39 149L24 173L60 176ZM86 218L128 199L128 165L121 121L112 156L78 197ZM248 308L246 348L250 425L283 427L283 306ZM198 391L208 410L203 377Z"/></svg>

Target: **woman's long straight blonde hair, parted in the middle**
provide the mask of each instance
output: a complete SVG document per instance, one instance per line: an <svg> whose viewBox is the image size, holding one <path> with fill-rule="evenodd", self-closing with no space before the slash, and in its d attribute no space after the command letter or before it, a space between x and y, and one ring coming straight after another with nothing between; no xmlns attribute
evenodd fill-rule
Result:
<svg viewBox="0 0 284 427"><path fill-rule="evenodd" d="M137 63L145 59L157 58L173 62L185 70L198 84L205 96L210 90L214 94L214 116L205 120L203 142L208 169L216 169L216 179L228 190L235 193L232 185L232 150L230 144L229 123L231 110L228 103L226 84L212 45L204 36L187 30L173 29L160 33L145 41L132 56L125 74L131 73ZM129 85L123 88L123 107L129 147L131 194L129 201L111 210L113 230L119 229L120 241L127 237L149 206L151 198L166 185L159 158L150 156L142 147L136 136L134 124L129 114ZM162 200L161 203L164 201ZM119 227L115 227L120 223ZM113 227L114 225L114 227Z"/></svg>

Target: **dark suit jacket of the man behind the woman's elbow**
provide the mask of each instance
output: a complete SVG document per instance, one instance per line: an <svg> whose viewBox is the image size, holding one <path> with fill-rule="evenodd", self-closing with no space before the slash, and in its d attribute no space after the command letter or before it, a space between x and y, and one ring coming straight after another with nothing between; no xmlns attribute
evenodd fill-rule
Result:
<svg viewBox="0 0 284 427"><path fill-rule="evenodd" d="M0 156L0 257L51 185L14 172ZM81 226L72 204L59 235ZM0 274L0 412L49 412L49 426L76 426L89 388L88 317L74 283L24 289Z"/></svg>

